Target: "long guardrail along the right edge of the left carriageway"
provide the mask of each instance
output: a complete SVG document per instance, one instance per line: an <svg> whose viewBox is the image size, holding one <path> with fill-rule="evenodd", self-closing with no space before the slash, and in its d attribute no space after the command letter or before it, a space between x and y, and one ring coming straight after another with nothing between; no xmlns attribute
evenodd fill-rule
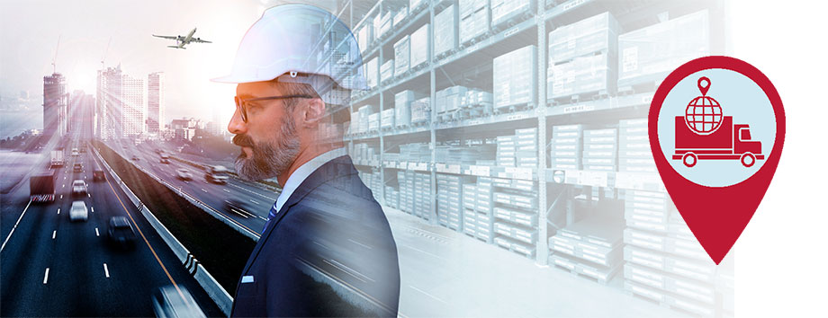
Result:
<svg viewBox="0 0 828 318"><path fill-rule="evenodd" d="M118 173L115 173L115 171L112 170L112 167L109 166L109 163L106 163L106 160L103 160L103 156L98 153L98 150L94 148L94 146L92 147L92 150L94 151L94 155L97 156L103 164L103 168L110 173L116 183L118 183L121 187L121 190L126 193L127 198L129 198L132 204L139 209L141 215L143 215L149 222L149 225L152 225L158 235L161 236L161 239L164 240L164 243L166 243L170 250L175 253L178 261L182 262L182 265L186 267L186 269L190 272L190 275L193 275L193 278L195 278L198 284L204 288L204 291L208 296L210 296L212 301L219 306L221 311L229 316L233 307L233 297L230 296L227 290L225 290L224 287L221 287L219 282L212 277L210 272L207 271L201 263L199 263L198 259L193 256L193 253L187 250L187 248L184 247L184 244L179 242L178 239L175 238L175 235L170 233L169 230L166 229L166 226L158 221L157 217L152 214L149 208L144 206L135 193L130 190L130 187L121 180Z"/></svg>

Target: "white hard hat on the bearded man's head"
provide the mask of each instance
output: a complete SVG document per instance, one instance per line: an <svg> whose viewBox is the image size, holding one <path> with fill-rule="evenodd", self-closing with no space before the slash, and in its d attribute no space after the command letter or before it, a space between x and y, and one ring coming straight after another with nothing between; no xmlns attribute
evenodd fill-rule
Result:
<svg viewBox="0 0 828 318"><path fill-rule="evenodd" d="M311 84L317 93L325 75L347 90L364 90L365 72L356 39L345 23L310 4L282 4L267 9L238 45L229 75L220 83L270 81L276 77ZM303 81L302 79L308 79Z"/></svg>

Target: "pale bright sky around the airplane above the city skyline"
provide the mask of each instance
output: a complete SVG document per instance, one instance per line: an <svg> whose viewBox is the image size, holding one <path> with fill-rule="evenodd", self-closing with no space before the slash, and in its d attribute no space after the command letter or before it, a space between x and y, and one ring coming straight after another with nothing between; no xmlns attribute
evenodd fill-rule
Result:
<svg viewBox="0 0 828 318"><path fill-rule="evenodd" d="M195 117L223 125L235 109L236 87L210 78L229 73L245 31L278 3L0 0L0 137L42 128L43 76L52 73L58 38L57 71L66 76L68 92L94 94L105 57L105 66L120 64L133 77L166 74L167 121ZM193 28L194 36L213 43L170 49L175 40L151 36L186 35ZM21 91L29 91L30 102L17 101Z"/></svg>

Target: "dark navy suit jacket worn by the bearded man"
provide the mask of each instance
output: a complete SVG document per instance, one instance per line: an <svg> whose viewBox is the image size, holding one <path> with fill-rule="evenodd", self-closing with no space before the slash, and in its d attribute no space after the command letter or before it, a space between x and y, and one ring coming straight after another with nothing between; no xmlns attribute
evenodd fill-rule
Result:
<svg viewBox="0 0 828 318"><path fill-rule="evenodd" d="M349 156L293 191L242 277L232 316L397 316L397 245Z"/></svg>

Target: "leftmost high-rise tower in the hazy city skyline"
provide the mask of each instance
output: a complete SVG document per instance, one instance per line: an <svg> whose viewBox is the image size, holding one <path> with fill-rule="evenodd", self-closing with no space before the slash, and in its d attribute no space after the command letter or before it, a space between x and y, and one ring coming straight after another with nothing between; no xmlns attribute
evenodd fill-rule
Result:
<svg viewBox="0 0 828 318"><path fill-rule="evenodd" d="M43 135L63 137L67 131L66 77L43 76Z"/></svg>

